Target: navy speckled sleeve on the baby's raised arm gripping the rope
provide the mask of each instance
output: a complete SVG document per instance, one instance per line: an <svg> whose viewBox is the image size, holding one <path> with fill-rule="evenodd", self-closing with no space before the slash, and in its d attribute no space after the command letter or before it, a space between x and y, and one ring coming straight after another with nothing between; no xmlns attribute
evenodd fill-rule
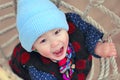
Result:
<svg viewBox="0 0 120 80"><path fill-rule="evenodd" d="M100 32L90 23L84 21L78 14L68 13L67 19L71 20L76 27L78 27L85 36L85 45L88 48L88 51L95 57L100 58L100 56L94 53L95 46L99 39L102 39L103 33ZM74 30L74 29L73 29Z"/></svg>

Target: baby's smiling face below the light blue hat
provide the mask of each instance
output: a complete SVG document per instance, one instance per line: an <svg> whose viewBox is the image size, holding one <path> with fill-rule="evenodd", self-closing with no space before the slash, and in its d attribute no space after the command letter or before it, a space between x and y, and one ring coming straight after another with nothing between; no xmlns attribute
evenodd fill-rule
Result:
<svg viewBox="0 0 120 80"><path fill-rule="evenodd" d="M40 36L33 49L51 60L61 60L66 56L68 33L64 29L54 29Z"/></svg>

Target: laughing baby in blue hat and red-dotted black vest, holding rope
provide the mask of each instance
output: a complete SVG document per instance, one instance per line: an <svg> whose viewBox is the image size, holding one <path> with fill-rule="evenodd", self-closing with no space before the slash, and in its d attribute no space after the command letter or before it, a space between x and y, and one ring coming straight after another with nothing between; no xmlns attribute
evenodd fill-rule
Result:
<svg viewBox="0 0 120 80"><path fill-rule="evenodd" d="M85 80L91 55L117 55L114 43L100 41L103 33L49 0L19 0L17 30L10 66L25 80Z"/></svg>

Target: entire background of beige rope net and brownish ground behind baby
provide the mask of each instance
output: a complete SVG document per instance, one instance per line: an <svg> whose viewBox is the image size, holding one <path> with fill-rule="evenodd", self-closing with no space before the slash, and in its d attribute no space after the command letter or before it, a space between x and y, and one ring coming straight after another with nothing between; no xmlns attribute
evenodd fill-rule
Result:
<svg viewBox="0 0 120 80"><path fill-rule="evenodd" d="M118 6L119 0L52 0L56 5L62 9L64 12L76 12L83 16L87 22L95 25L99 30L104 32L106 35L104 39L108 36L112 36L114 41L115 37L118 39L118 34L120 34L120 10ZM58 1L58 2L56 2ZM113 2L117 2L116 5L112 5ZM14 75L7 64L10 58L12 49L19 42L17 30L15 29L15 0L0 0L0 80L19 80L16 75ZM116 8L117 12L111 11L108 5L113 6L112 10ZM107 8L108 7L108 8ZM116 8L115 8L116 7ZM93 14L94 13L94 14ZM117 15L115 14L117 13ZM97 15L95 15L97 14ZM101 15L102 14L102 15ZM93 20L94 19L94 20ZM99 23L99 24L98 24ZM107 23L107 24L106 24ZM100 25L102 24L102 26ZM106 27L109 26L109 27ZM111 39L109 39L111 41ZM120 44L120 43L119 43ZM118 48L119 46L117 46ZM119 48L118 48L119 49ZM120 51L118 51L120 55ZM118 56L119 58L119 56ZM118 59L120 61L120 59ZM99 73L95 78L94 71L96 72L99 66ZM114 66L112 66L114 65ZM110 66L112 68L110 68ZM118 66L118 67L117 67ZM88 80L119 80L120 65L116 64L114 57L110 59L94 59L91 74L87 78ZM97 67L97 68L96 68ZM110 70L112 69L112 70ZM111 73L111 74L109 74ZM6 74L6 75L4 75ZM12 75L10 75L12 74ZM93 77L94 76L94 77Z"/></svg>

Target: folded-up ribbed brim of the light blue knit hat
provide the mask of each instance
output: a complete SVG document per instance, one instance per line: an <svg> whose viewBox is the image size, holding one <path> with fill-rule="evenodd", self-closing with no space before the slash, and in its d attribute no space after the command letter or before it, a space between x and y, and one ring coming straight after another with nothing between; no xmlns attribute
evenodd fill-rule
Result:
<svg viewBox="0 0 120 80"><path fill-rule="evenodd" d="M68 30L65 14L58 9L57 11L51 10L52 9L49 9L32 16L19 30L21 45L28 52L32 51L34 42L45 32L56 28ZM44 16L44 18L42 18L42 16Z"/></svg>

